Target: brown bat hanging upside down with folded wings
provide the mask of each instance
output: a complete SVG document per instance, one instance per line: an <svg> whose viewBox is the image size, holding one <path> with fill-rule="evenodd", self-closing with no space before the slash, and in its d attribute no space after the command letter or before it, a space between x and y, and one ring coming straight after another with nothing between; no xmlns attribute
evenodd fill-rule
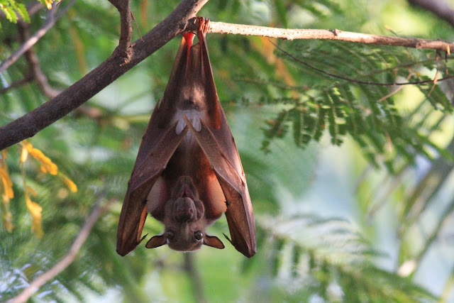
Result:
<svg viewBox="0 0 454 303"><path fill-rule="evenodd" d="M218 101L205 35L183 33L162 101L143 136L118 223L116 251L126 255L143 241L148 213L165 226L145 245L191 251L224 248L206 226L226 213L232 245L250 258L256 251L248 185L226 115Z"/></svg>

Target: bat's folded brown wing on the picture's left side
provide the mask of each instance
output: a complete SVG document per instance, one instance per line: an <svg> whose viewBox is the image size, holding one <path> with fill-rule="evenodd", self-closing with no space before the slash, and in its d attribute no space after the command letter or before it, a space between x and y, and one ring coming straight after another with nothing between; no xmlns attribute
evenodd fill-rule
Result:
<svg viewBox="0 0 454 303"><path fill-rule="evenodd" d="M148 127L149 130L155 128L152 122L153 115ZM148 150L148 155L139 153L139 155L143 155L144 159L141 160L138 157L136 160L118 223L116 251L119 255L128 254L143 240L141 234L147 216L145 205L148 193L155 184L157 177L165 170L167 163L188 130L186 127L181 133L177 134L176 128L177 123L174 123L167 131L163 131L159 141L155 142L153 148ZM153 129L150 133L157 133L157 130ZM145 137L143 140L145 141ZM140 145L140 150L146 145L144 141Z"/></svg>

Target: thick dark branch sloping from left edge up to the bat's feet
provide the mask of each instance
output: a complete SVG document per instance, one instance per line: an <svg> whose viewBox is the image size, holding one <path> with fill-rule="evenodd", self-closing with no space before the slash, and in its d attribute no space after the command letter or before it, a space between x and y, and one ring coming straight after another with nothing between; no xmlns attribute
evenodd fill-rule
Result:
<svg viewBox="0 0 454 303"><path fill-rule="evenodd" d="M159 23L131 45L131 60L124 62L118 48L92 72L65 89L57 97L0 128L0 150L30 138L41 129L66 116L85 101L104 89L149 55L155 53L175 36L187 30L196 30L198 20L193 18L208 0L184 0Z"/></svg>

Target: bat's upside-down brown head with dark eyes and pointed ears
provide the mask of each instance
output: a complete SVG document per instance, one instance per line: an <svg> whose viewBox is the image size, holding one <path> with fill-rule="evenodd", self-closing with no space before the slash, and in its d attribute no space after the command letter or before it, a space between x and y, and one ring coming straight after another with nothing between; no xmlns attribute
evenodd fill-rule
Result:
<svg viewBox="0 0 454 303"><path fill-rule="evenodd" d="M165 206L165 231L162 235L150 238L145 247L156 248L167 244L173 250L192 251L205 244L224 248L216 236L205 233L207 222L204 214L204 204L199 200L192 179L180 177L172 193L172 199Z"/></svg>

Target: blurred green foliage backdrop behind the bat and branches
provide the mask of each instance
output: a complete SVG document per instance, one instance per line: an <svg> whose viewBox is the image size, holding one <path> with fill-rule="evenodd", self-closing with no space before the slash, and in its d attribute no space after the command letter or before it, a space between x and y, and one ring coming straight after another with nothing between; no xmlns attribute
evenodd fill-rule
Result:
<svg viewBox="0 0 454 303"><path fill-rule="evenodd" d="M21 44L23 25L10 8L27 20L23 6L34 3L0 1L1 61ZM178 3L133 0L134 39ZM49 5L44 1L30 13L31 33L43 25ZM53 89L83 77L118 42L118 11L108 1L59 4L67 5L33 47ZM448 23L404 0L209 1L199 15L454 40ZM33 301L454 302L454 83L359 84L304 64L391 83L433 79L437 71L438 78L453 75L450 57L319 40L272 40L286 53L268 38L209 34L208 40L219 98L248 178L257 255L246 260L231 246L184 254L141 245L124 258L115 252L126 184L150 112L167 84L176 38L82 108L28 143L2 151L0 168L12 183L3 175L0 301L62 258L94 204L109 201L70 268ZM3 72L0 89L28 79L28 65L21 57ZM35 81L2 91L0 124L48 99ZM55 174L41 168L43 157L21 160L27 144L57 167ZM227 233L225 219L209 230ZM144 233L161 231L149 218Z"/></svg>

